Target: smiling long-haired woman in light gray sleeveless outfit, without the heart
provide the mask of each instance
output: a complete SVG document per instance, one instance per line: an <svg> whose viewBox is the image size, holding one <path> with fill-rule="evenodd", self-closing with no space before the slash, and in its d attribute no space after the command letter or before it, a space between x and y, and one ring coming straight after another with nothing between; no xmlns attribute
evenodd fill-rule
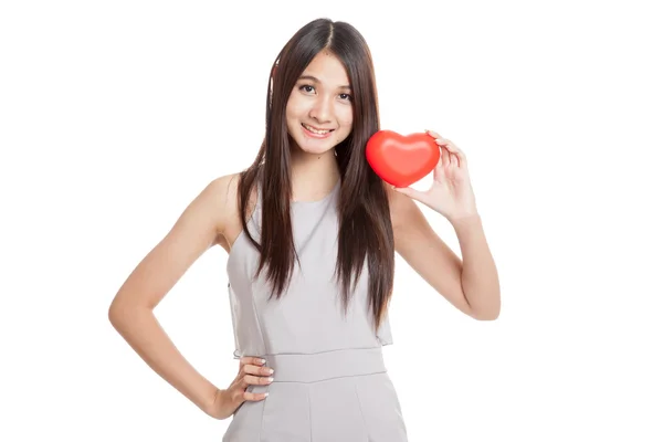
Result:
<svg viewBox="0 0 663 442"><path fill-rule="evenodd" d="M277 55L253 165L211 181L138 264L109 308L115 328L164 379L217 419L224 442L407 440L382 360L398 252L476 319L499 313L497 272L463 152L441 149L427 192L369 167L379 130L372 61L351 25L315 20ZM413 200L445 217L463 261ZM178 352L152 309L210 246L229 253L239 372L219 389ZM270 396L267 396L267 393Z"/></svg>

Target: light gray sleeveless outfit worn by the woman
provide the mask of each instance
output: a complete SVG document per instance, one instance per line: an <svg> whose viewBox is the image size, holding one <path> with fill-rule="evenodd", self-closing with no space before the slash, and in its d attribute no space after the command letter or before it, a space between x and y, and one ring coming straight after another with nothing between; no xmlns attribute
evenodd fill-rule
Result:
<svg viewBox="0 0 663 442"><path fill-rule="evenodd" d="M293 202L295 264L281 299L267 301L259 254L240 233L228 257L234 358L262 357L274 381L232 415L223 442L406 442L400 402L387 373L382 346L392 344L388 318L378 333L367 306L365 266L347 316L334 278L336 202L340 181L324 199ZM249 221L260 239L261 198Z"/></svg>

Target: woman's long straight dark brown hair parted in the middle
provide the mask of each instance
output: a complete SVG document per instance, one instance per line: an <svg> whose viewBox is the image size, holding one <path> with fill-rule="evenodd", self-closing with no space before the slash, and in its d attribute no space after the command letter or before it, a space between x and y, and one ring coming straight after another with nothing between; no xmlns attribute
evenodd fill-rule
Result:
<svg viewBox="0 0 663 442"><path fill-rule="evenodd" d="M248 232L249 199L255 183L262 193L257 272L266 269L272 295L282 296L297 260L291 224L291 157L285 109L302 72L322 50L345 65L352 87L352 128L336 146L341 187L336 277L347 312L365 263L369 271L369 308L376 329L387 311L393 286L394 245L389 201L382 180L368 166L366 143L380 129L372 56L350 24L318 19L299 29L272 66L266 99L266 131L254 162L240 175L238 202Z"/></svg>

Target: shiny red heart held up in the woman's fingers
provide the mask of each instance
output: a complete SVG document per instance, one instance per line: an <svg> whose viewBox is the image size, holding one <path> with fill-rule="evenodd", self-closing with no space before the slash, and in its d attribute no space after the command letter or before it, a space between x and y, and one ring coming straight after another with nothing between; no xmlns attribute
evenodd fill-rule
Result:
<svg viewBox="0 0 663 442"><path fill-rule="evenodd" d="M379 130L366 145L366 159L385 181L396 187L408 187L435 168L440 146L428 134L402 136L391 130Z"/></svg>

